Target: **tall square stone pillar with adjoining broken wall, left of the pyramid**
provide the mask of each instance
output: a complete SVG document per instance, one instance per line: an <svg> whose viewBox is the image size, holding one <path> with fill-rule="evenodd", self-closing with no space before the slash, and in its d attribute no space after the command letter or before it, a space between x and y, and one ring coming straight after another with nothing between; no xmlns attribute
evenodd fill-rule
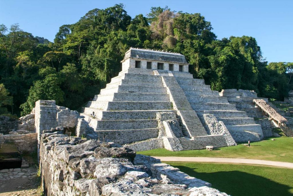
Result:
<svg viewBox="0 0 293 196"><path fill-rule="evenodd" d="M40 139L44 130L57 127L57 107L54 100L38 100L35 103L35 130L38 134L38 154Z"/></svg>

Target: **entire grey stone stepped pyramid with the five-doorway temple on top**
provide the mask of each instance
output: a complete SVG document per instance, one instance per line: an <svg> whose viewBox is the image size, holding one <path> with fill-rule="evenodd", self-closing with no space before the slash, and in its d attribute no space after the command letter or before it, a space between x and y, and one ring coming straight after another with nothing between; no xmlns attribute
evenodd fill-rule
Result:
<svg viewBox="0 0 293 196"><path fill-rule="evenodd" d="M194 79L188 65L182 54L130 48L122 71L83 108L77 135L135 151L217 148L263 138L253 117Z"/></svg>

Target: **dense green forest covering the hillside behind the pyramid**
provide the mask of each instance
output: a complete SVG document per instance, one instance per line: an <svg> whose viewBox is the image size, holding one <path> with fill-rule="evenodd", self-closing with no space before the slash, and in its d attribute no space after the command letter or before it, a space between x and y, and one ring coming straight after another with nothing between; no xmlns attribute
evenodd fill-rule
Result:
<svg viewBox="0 0 293 196"><path fill-rule="evenodd" d="M213 90L241 88L282 100L292 63L267 64L255 38L217 40L200 13L152 7L131 18L122 4L93 9L78 22L62 25L54 43L12 25L0 25L0 83L13 96L12 113L28 114L38 99L78 109L121 69L129 47L184 54L190 72ZM290 74L291 73L291 74Z"/></svg>

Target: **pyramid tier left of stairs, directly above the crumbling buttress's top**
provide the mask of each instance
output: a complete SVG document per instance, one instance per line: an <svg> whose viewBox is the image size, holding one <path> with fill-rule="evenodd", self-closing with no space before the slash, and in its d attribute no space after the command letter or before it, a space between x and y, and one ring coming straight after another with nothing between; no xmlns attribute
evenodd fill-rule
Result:
<svg viewBox="0 0 293 196"><path fill-rule="evenodd" d="M173 110L169 101L89 101L86 107L105 111Z"/></svg>

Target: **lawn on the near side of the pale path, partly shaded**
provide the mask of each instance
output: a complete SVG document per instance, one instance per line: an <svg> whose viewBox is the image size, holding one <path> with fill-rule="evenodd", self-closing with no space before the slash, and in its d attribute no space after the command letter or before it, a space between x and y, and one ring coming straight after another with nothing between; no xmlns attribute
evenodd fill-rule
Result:
<svg viewBox="0 0 293 196"><path fill-rule="evenodd" d="M233 196L293 195L293 169L219 163L166 162Z"/></svg>

